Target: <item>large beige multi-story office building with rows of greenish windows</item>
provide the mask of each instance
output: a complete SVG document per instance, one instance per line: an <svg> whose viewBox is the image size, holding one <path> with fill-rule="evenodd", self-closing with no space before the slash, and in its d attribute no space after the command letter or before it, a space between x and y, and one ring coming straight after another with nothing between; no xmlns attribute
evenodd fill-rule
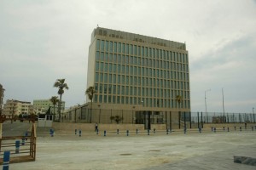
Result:
<svg viewBox="0 0 256 170"><path fill-rule="evenodd" d="M90 86L96 89L93 109L132 111L138 123L153 115L166 121L166 112L189 112L186 44L97 27L89 49Z"/></svg>

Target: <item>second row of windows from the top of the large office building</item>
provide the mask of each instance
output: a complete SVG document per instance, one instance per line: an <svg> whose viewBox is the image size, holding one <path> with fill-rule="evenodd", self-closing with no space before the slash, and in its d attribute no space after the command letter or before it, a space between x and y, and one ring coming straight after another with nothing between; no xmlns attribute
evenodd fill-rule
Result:
<svg viewBox="0 0 256 170"><path fill-rule="evenodd" d="M110 59L108 54L104 55L105 57L102 59L97 57L96 55L96 62L102 61L105 63L109 63L108 65L133 65L133 66L145 66L145 67L153 67L158 69L166 69L166 70L174 70L174 71L187 71L189 72L189 65L182 64L182 63L175 63L171 61L164 61L164 60L155 60L155 59L140 59L133 56L126 56L124 59ZM121 55L118 55L121 56Z"/></svg>

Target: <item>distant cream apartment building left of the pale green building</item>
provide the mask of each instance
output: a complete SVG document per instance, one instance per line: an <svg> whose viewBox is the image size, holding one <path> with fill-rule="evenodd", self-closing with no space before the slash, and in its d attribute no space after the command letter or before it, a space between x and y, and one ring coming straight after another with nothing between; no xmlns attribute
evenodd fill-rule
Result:
<svg viewBox="0 0 256 170"><path fill-rule="evenodd" d="M3 115L19 116L29 115L31 102L8 99L3 106Z"/></svg>

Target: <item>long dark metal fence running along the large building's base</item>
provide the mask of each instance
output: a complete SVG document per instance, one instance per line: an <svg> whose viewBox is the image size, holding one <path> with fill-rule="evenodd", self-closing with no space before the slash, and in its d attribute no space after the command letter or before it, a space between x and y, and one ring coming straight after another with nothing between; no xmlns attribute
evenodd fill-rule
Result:
<svg viewBox="0 0 256 170"><path fill-rule="evenodd" d="M135 111L135 110L104 110L77 107L62 115L63 122L84 123L130 123L166 124L168 128L203 127L206 123L246 123L256 122L253 113L214 113L214 112L183 112L183 111Z"/></svg>

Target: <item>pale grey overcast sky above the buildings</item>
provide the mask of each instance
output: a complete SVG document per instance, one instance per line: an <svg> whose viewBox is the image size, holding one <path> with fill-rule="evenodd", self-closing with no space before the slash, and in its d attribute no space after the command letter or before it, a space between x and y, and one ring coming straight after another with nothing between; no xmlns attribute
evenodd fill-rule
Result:
<svg viewBox="0 0 256 170"><path fill-rule="evenodd" d="M256 110L254 0L1 0L0 83L7 99L57 95L84 104L90 34L96 26L186 42L191 111ZM255 111L254 111L255 112Z"/></svg>

